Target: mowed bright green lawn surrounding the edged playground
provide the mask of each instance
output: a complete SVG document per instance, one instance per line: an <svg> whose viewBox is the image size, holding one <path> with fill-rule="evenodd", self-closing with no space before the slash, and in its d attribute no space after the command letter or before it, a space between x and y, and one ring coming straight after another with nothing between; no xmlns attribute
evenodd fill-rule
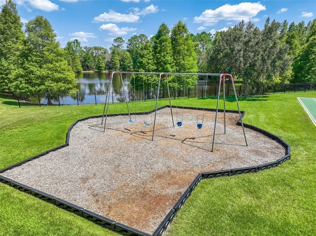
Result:
<svg viewBox="0 0 316 236"><path fill-rule="evenodd" d="M239 98L240 109L246 111L244 122L281 136L291 145L291 160L254 174L201 181L174 219L169 236L316 235L316 127L296 97L315 98L316 92ZM198 102L202 107L204 101ZM147 102L146 109L154 103ZM215 108L216 99L205 103ZM131 104L131 112L143 111L143 106ZM125 107L111 104L110 112L126 112ZM237 109L233 97L226 108ZM102 112L102 105L19 108L17 102L0 98L0 169L65 143L74 121ZM0 184L0 236L9 235L119 236Z"/></svg>

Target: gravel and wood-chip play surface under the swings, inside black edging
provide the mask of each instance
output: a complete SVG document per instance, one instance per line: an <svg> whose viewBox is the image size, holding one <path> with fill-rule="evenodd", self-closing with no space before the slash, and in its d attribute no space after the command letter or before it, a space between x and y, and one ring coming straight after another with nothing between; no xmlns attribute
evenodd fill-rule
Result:
<svg viewBox="0 0 316 236"><path fill-rule="evenodd" d="M69 146L10 169L3 176L152 234L200 172L252 167L285 155L276 141L236 125L239 115L173 108L76 124ZM197 118L203 119L197 129ZM176 126L182 121L181 127ZM150 124L145 125L144 122ZM47 137L49 138L49 137Z"/></svg>

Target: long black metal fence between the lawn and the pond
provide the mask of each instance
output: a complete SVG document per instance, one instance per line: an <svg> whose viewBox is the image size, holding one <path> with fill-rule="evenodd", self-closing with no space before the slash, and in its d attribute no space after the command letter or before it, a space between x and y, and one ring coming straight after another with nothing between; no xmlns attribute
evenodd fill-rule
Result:
<svg viewBox="0 0 316 236"><path fill-rule="evenodd" d="M170 89L171 99L181 98L203 98L217 97L219 84L210 84L199 88L186 88L184 89ZM245 94L245 86L235 86L237 96L243 96ZM313 83L295 83L295 84L276 84L272 86L263 86L257 88L255 86L248 86L247 94L252 95L264 95L275 93L295 93L295 92L307 92L316 91L316 82ZM36 95L16 95L19 102L19 107L27 106L62 106L62 105L83 105L83 104L104 104L107 100L110 103L121 103L133 101L147 101L157 99L157 90L145 90L145 91L128 91L128 92L111 92L111 93L75 93L75 94L36 94ZM223 93L223 86L221 88ZM225 83L225 95L234 95L234 89L231 83ZM160 89L159 100L168 99L167 89Z"/></svg>

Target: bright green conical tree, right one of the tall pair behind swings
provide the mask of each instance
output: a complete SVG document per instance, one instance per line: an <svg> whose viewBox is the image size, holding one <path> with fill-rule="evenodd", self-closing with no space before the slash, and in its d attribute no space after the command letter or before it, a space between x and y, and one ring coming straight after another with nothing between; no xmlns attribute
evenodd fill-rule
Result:
<svg viewBox="0 0 316 236"><path fill-rule="evenodd" d="M187 25L182 21L174 25L171 30L171 45L175 70L177 72L197 73L195 45ZM196 79L196 76L179 76L178 83L184 86L186 82L186 87L194 87L197 83Z"/></svg>

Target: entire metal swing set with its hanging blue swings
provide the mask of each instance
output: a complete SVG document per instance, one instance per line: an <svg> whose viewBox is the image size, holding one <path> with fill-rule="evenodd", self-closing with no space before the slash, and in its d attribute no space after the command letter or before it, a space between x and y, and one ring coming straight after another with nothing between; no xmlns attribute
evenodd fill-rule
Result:
<svg viewBox="0 0 316 236"><path fill-rule="evenodd" d="M198 120L198 107L197 107L197 129L202 129L202 127L203 127L205 101L206 101L206 95L207 95L207 78L208 78L208 76L219 76L219 87L218 87L216 115L215 115L215 123L214 123L214 132L213 132L213 141L212 141L212 149L211 149L211 151L213 151L213 149L214 149L215 132L216 132L216 124L217 124L217 114L218 114L218 105L219 105L221 84L222 83L223 83L223 98L224 98L224 134L226 134L225 80L226 80L226 77L229 77L231 82L232 82L233 89L234 89L235 99L236 99L236 102L237 102L237 108L238 108L238 113L239 113L239 117L240 117L240 121L241 121L241 127L242 127L242 131L243 131L243 135L244 135L244 138L245 138L245 143L246 143L246 146L248 146L246 135L245 135L245 131L244 131L244 126L243 126L243 122L242 122L242 117L241 117L241 113L240 113L240 109L239 109L239 104L238 104L238 100L237 100L237 93L236 93L236 89L235 89L235 85L234 85L234 79L233 79L233 76L231 74L224 74L224 73L173 73L173 72L112 71L112 72L110 72L110 83L108 85L108 93L107 93L107 96L106 96L106 101L104 103L103 116L102 116L102 122L101 122L101 125L102 125L103 124L103 120L105 118L103 132L105 132L105 129L106 129L106 123L107 123L107 117L108 117L108 111L109 111L109 100L110 100L109 97L110 97L110 94L112 93L112 81L113 81L114 74L119 74L122 84L123 84L122 74L151 75L151 93L153 92L153 75L158 76L158 89L157 89L157 95L156 95L156 109L155 109L154 123L153 123L153 120L151 121L151 123L146 122L146 120L145 120L145 82L144 82L144 78L143 78L143 100L144 100L144 106L143 106L144 107L144 111L143 111L144 121L143 122L144 122L144 125L146 125L146 126L153 125L152 141L154 140L154 136L155 136L155 126L156 126L156 121L157 121L157 110L158 110L158 98L159 98L160 82L161 82L162 76L164 76L165 79L166 79L166 85L167 85L167 91L168 91L168 99L169 99L169 104L170 104L170 114L171 114L171 120L172 120L173 127L175 127L175 125L174 125L173 113L172 113L172 105L171 105L171 98L170 98L168 75L174 75L175 76L175 82L176 82L175 93L176 93L176 96L178 96L178 94L177 94L177 87L178 87L177 75L184 75L184 92L183 92L183 97L185 97L185 92L186 92L187 75L206 76L206 81L205 81L205 88L206 89L204 90L205 91L205 94L204 94L204 105L203 105L203 109L202 109L203 110L203 112L202 112L202 119L201 119L200 122ZM134 88L135 88L135 86L134 86ZM125 91L124 87L123 87L123 93L124 93L124 96L125 96L125 102L126 102L126 106L127 106L128 122L133 123L134 121L131 119L130 109L129 109L129 106L128 106L128 99L127 99L126 91ZM197 96L197 91L196 91L196 96ZM202 90L202 98L203 98L203 90ZM178 108L178 106L176 106L176 108ZM176 115L176 118L177 118L177 123L176 124L177 124L177 126L179 128L183 125L183 112L184 112L184 103L183 103L183 106L182 106L181 120L178 119L178 112L177 112L177 115ZM153 114L153 112L151 112L151 114Z"/></svg>

